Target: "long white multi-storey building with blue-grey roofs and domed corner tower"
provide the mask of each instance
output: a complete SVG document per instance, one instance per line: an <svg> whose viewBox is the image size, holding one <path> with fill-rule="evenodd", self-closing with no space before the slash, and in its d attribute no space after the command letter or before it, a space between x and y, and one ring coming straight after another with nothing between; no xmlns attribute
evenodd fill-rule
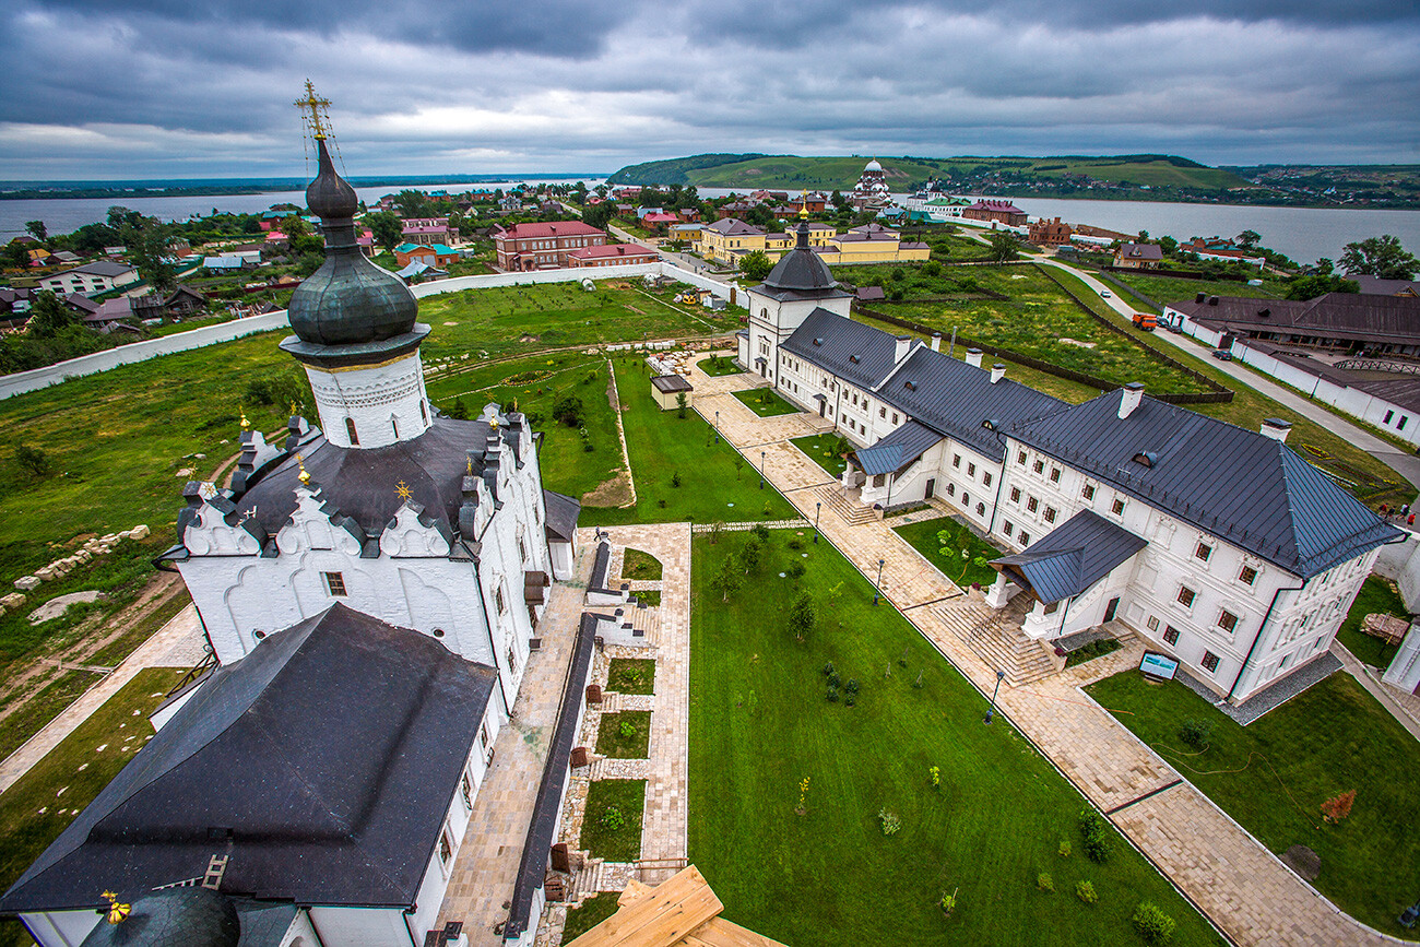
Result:
<svg viewBox="0 0 1420 947"><path fill-rule="evenodd" d="M1139 385L1069 405L980 351L852 321L802 226L746 295L741 366L856 447L848 498L956 507L1012 551L985 601L1030 596L1039 642L1118 620L1241 703L1326 653L1404 535L1291 450L1284 420L1244 430Z"/></svg>

